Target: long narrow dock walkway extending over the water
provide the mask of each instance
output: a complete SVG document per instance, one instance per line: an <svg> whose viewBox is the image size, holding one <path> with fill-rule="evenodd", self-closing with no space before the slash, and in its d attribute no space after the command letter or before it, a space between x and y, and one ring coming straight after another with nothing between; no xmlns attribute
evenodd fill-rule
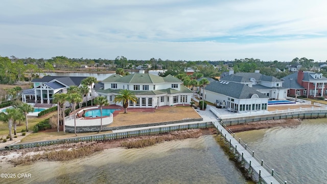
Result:
<svg viewBox="0 0 327 184"><path fill-rule="evenodd" d="M243 154L243 159L250 165L250 167L260 175L260 179L264 180L266 183L281 183L278 182L276 178L272 176L270 172L268 172L262 165L261 161L258 162L252 154L250 154L237 140L233 138L233 136L225 130L225 128L218 122L218 121L213 121L214 126L217 128L217 131L221 133L222 136L225 137L225 139L230 142L230 145L236 149L236 151L242 155ZM251 162L251 164L250 164Z"/></svg>

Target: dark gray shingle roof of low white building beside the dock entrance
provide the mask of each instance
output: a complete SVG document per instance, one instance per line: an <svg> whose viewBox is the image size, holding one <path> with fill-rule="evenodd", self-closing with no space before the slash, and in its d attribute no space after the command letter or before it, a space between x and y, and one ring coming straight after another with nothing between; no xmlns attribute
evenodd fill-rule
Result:
<svg viewBox="0 0 327 184"><path fill-rule="evenodd" d="M256 94L259 98L269 98L268 96L260 93L259 91L241 83L228 82L221 83L222 81L211 82L205 87L205 90L213 91L218 94L226 95L236 99L249 99L252 95Z"/></svg>

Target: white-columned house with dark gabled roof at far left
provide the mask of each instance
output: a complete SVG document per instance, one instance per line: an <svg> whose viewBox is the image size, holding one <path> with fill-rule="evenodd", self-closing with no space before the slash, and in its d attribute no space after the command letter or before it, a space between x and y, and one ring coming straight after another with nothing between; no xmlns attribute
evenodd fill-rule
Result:
<svg viewBox="0 0 327 184"><path fill-rule="evenodd" d="M67 88L70 86L81 86L81 81L85 78L86 77L44 76L40 79L33 79L33 89L27 89L21 93L22 102L52 104L54 94L67 93ZM95 96L94 93L94 97ZM90 97L91 95L89 93L88 99L90 99Z"/></svg>

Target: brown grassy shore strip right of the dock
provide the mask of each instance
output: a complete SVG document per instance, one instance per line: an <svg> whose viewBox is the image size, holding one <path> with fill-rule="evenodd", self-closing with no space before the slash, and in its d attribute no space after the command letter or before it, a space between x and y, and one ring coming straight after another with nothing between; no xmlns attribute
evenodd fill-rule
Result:
<svg viewBox="0 0 327 184"><path fill-rule="evenodd" d="M294 127L299 124L301 124L300 119L288 119L288 120L283 119L283 120L267 120L267 121L251 122L247 124L228 126L228 128L230 128L232 132L241 132L241 131L248 131L248 130L271 128L276 126Z"/></svg>

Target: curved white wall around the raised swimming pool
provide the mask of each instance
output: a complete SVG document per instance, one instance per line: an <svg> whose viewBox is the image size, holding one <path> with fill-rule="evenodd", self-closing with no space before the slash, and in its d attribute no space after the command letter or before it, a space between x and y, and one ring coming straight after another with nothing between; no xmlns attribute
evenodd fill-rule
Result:
<svg viewBox="0 0 327 184"><path fill-rule="evenodd" d="M74 122L74 114L71 116L67 116L65 117L65 125L67 126L75 126L75 122ZM80 126L100 126L100 121L101 118L94 118L94 119L78 119L76 118L76 126L80 127ZM102 118L102 125L109 125L111 124L113 121L113 116L112 113L110 113L109 117L104 117Z"/></svg>

